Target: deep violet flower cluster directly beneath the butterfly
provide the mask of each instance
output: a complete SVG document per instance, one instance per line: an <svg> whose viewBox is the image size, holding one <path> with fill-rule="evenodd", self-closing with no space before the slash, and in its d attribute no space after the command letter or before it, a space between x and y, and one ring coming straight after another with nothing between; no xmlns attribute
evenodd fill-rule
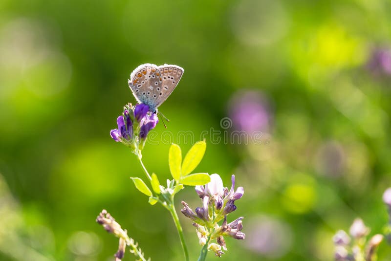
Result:
<svg viewBox="0 0 391 261"><path fill-rule="evenodd" d="M149 111L148 105L141 103L134 107L128 104L117 118L118 129L111 130L110 135L116 142L135 148L135 143L145 141L148 132L158 122L156 114Z"/></svg>

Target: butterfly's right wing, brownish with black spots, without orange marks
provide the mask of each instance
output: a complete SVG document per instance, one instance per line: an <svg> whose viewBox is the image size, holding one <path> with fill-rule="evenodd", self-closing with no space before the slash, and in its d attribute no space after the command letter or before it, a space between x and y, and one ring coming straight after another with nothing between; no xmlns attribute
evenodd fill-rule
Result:
<svg viewBox="0 0 391 261"><path fill-rule="evenodd" d="M174 91L183 75L183 68L177 65L160 65L158 67L161 77L161 87L156 88L156 107L159 107Z"/></svg>

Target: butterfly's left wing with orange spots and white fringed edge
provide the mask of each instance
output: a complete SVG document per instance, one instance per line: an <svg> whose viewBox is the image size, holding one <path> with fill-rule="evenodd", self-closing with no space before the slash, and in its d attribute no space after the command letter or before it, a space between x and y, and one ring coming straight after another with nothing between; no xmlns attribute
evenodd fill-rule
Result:
<svg viewBox="0 0 391 261"><path fill-rule="evenodd" d="M163 78L157 65L143 64L135 68L128 80L129 87L137 102L144 103L154 111L162 89Z"/></svg>

